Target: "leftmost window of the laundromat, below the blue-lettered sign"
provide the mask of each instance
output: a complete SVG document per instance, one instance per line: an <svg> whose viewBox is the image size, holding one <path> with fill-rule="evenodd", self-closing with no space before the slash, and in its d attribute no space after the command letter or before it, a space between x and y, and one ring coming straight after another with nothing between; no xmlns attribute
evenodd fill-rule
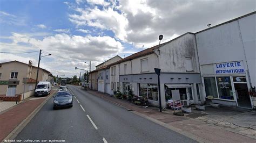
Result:
<svg viewBox="0 0 256 143"><path fill-rule="evenodd" d="M204 83L206 96L213 96L214 98L218 98L215 77L204 77Z"/></svg>

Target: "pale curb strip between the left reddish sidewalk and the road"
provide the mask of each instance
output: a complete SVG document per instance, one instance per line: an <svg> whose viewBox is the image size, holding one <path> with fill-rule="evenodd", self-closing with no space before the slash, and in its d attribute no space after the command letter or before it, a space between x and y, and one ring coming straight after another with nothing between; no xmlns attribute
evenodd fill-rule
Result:
<svg viewBox="0 0 256 143"><path fill-rule="evenodd" d="M30 120L37 114L38 111L44 106L44 104L55 94L57 90L52 92L53 94L47 97L37 108L30 113L28 117L26 117L14 130L11 131L3 140L14 140L18 133L23 130L23 128L30 122ZM3 142L3 140L1 142Z"/></svg>

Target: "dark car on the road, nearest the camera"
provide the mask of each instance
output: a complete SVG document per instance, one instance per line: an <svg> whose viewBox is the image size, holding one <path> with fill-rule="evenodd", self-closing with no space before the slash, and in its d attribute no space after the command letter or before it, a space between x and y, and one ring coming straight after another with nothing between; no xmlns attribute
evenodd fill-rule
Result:
<svg viewBox="0 0 256 143"><path fill-rule="evenodd" d="M59 91L53 98L53 109L73 106L73 96L69 91Z"/></svg>

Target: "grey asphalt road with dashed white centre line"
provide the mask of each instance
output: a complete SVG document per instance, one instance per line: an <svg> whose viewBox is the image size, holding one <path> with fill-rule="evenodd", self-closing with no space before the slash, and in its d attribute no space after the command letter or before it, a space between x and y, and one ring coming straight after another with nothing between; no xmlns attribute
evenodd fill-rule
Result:
<svg viewBox="0 0 256 143"><path fill-rule="evenodd" d="M53 110L49 99L17 139L65 142L196 142L73 85L73 107Z"/></svg>

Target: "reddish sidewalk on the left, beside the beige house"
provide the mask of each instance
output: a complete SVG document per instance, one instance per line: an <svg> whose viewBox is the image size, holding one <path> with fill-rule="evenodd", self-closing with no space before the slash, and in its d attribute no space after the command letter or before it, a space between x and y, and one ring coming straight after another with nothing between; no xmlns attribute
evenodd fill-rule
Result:
<svg viewBox="0 0 256 143"><path fill-rule="evenodd" d="M39 105L41 105L49 96L52 96L55 90L47 97L30 98L8 111L0 114L0 140L7 137L19 124L22 123Z"/></svg>

